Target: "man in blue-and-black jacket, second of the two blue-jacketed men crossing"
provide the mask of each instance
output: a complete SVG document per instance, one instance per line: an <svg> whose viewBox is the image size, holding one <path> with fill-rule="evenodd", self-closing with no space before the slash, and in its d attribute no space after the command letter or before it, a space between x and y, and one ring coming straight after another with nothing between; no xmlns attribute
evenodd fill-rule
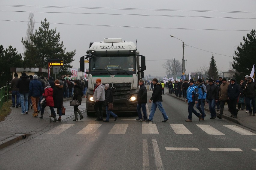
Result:
<svg viewBox="0 0 256 170"><path fill-rule="evenodd" d="M198 86L198 102L197 102L197 109L202 114L200 120L204 120L205 113L204 113L204 103L207 95L206 86L203 84L203 80L201 78L197 79L197 86Z"/></svg>

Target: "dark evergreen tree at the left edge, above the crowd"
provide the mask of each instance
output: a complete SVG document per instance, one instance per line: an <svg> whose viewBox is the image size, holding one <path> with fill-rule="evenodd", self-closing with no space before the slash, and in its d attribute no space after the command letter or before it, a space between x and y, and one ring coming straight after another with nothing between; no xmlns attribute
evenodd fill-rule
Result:
<svg viewBox="0 0 256 170"><path fill-rule="evenodd" d="M16 48L11 45L4 50L3 45L0 45L0 87L6 86L7 82L12 79L11 67L22 67L22 56L18 54Z"/></svg>

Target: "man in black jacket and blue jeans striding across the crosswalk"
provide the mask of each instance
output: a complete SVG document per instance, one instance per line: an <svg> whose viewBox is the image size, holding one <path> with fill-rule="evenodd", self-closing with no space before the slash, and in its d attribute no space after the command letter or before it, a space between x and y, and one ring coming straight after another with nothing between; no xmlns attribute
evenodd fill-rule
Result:
<svg viewBox="0 0 256 170"><path fill-rule="evenodd" d="M154 84L154 89L153 89L153 93L152 93L152 97L149 99L149 103L151 103L151 101L153 101L152 106L151 106L151 110L150 110L150 114L149 114L149 118L146 120L146 122L152 122L153 121L153 117L155 114L155 111L158 107L158 109L160 110L160 112L163 115L163 121L162 122L166 122L169 118L165 113L165 110L162 106L162 85L160 83L158 83L158 80L156 78L153 78L153 84Z"/></svg>

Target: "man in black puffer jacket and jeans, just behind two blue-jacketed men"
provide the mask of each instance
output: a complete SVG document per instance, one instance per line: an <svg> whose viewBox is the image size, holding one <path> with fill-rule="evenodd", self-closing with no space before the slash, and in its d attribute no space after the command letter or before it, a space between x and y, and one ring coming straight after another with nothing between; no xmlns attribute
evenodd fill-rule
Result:
<svg viewBox="0 0 256 170"><path fill-rule="evenodd" d="M210 119L215 119L216 118L216 110L215 110L215 105L216 102L218 101L218 87L216 84L214 84L212 78L209 79L209 84L206 85L206 90L207 90L207 101L209 103L209 110L211 113Z"/></svg>

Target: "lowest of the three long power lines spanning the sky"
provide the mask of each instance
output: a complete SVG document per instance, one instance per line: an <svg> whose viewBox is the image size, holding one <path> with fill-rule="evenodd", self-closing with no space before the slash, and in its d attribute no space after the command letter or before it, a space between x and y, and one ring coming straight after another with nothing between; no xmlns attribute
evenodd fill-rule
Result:
<svg viewBox="0 0 256 170"><path fill-rule="evenodd" d="M5 19L0 19L0 21L29 22L29 21L16 21L16 20L5 20ZM41 23L41 22L35 22L35 23ZM231 29L169 28L169 27L139 27L139 26L123 26L123 25L71 24L71 23L58 23L58 22L49 22L49 23L50 24L62 24L62 25L83 25L83 26L103 26L103 27L123 27L123 28L181 29L181 30L206 30L206 31L251 31L251 30L231 30Z"/></svg>

